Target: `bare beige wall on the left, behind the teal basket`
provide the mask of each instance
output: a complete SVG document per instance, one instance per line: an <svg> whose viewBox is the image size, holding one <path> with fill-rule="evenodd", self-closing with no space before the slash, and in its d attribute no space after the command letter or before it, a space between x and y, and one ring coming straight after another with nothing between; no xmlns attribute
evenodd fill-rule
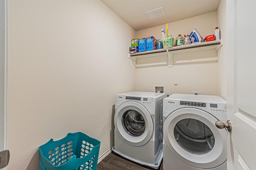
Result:
<svg viewBox="0 0 256 170"><path fill-rule="evenodd" d="M38 170L38 147L77 131L114 145L115 95L135 90L135 31L93 1L8 1L9 170Z"/></svg>

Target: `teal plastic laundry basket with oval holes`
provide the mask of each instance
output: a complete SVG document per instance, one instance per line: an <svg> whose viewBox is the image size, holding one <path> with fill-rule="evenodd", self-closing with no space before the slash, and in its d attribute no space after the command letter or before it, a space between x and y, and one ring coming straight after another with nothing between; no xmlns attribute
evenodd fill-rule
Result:
<svg viewBox="0 0 256 170"><path fill-rule="evenodd" d="M40 170L96 170L100 141L76 132L39 147Z"/></svg>

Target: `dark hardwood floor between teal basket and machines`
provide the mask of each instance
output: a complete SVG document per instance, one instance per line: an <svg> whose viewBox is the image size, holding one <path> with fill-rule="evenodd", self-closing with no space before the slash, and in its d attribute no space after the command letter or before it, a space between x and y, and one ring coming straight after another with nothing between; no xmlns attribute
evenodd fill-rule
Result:
<svg viewBox="0 0 256 170"><path fill-rule="evenodd" d="M157 170L164 170L162 162ZM97 170L155 170L148 166L132 162L114 152L111 152L98 163Z"/></svg>

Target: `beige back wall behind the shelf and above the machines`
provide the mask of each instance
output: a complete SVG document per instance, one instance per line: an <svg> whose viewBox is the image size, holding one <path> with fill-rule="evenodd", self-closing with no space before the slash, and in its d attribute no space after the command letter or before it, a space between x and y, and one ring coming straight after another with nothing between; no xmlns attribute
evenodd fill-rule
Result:
<svg viewBox="0 0 256 170"><path fill-rule="evenodd" d="M168 23L168 35L177 37L178 34L188 35L195 28L204 39L206 35L214 34L215 27L218 26L217 12L180 20ZM144 29L136 32L136 37L154 36L157 39L161 36L161 29L166 28L166 25L159 25L149 29ZM174 66L148 66L138 68L136 70L136 90L138 91L153 91L154 85L165 85L166 91L173 93L192 94L192 91L200 91L201 94L218 95L219 94L219 76L218 63L214 62L196 62L177 64L179 57L188 56L198 57L198 55L208 56L206 52L186 53L186 56L174 56ZM154 57L156 61L167 61L166 57ZM141 59L140 64L150 63L150 58ZM153 60L153 59L152 59ZM147 76L145 76L147 75ZM177 82L178 85L174 85Z"/></svg>

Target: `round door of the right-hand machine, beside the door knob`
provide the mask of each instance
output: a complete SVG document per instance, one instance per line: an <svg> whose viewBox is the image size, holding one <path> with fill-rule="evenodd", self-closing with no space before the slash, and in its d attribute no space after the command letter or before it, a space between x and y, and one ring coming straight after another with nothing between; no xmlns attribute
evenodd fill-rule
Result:
<svg viewBox="0 0 256 170"><path fill-rule="evenodd" d="M214 116L195 108L178 109L164 122L164 143L182 162L196 168L214 168L226 161L226 131Z"/></svg>

